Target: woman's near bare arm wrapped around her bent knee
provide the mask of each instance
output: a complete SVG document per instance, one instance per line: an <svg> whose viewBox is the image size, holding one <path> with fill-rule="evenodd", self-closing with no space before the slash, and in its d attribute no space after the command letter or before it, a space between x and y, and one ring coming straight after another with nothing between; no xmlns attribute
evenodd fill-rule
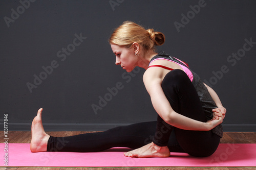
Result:
<svg viewBox="0 0 256 170"><path fill-rule="evenodd" d="M145 72L143 76L145 87L151 96L153 107L167 124L184 130L208 131L222 123L222 117L203 123L175 112L161 87L161 76L156 75L156 72L148 72L148 75L150 76Z"/></svg>

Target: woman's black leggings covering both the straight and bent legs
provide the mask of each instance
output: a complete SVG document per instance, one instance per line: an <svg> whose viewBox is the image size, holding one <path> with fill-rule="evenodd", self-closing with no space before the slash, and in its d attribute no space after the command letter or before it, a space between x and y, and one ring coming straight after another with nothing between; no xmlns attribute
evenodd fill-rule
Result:
<svg viewBox="0 0 256 170"><path fill-rule="evenodd" d="M175 69L168 72L162 82L162 89L174 111L206 122L197 91L184 71ZM216 151L220 137L211 131L188 131L173 127L158 115L155 122L116 127L104 132L67 137L50 136L47 151L98 152L113 147L136 149L152 141L159 146L167 145L170 152L205 157Z"/></svg>

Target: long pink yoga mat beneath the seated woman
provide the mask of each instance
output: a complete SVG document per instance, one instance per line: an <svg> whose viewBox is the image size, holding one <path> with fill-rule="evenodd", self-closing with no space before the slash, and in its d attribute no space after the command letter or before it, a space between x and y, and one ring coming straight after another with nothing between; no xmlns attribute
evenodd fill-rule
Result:
<svg viewBox="0 0 256 170"><path fill-rule="evenodd" d="M112 148L104 152L39 152L31 153L29 143L0 143L1 166L57 167L139 167L139 166L256 166L256 144L220 144L217 151L205 158L185 153L171 153L168 158L129 158L127 148ZM5 151L8 148L8 151ZM8 153L8 157L6 157ZM4 157L4 158L3 158Z"/></svg>

